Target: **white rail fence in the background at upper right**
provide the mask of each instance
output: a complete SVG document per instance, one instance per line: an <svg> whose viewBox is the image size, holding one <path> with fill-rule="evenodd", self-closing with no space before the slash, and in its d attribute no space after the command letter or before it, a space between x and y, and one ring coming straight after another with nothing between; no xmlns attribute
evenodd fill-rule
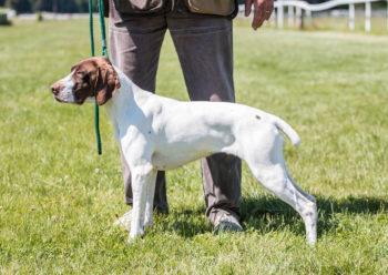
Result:
<svg viewBox="0 0 388 275"><path fill-rule="evenodd" d="M348 4L349 7L349 29L355 29L355 4L365 4L365 30L367 32L370 31L370 18L371 18L371 2L377 2L381 0L330 0L324 3L310 4L306 1L296 1L296 0L277 0L275 1L275 14L273 14L273 19L277 18L277 27L284 27L284 9L287 7L288 9L288 23L294 21L294 16L299 21L303 20L303 10L306 13L308 19L312 18L312 12L316 11L327 11L338 6ZM241 6L239 10L244 10L245 7ZM294 12L295 9L295 12ZM388 29L388 0L387 0L387 29Z"/></svg>

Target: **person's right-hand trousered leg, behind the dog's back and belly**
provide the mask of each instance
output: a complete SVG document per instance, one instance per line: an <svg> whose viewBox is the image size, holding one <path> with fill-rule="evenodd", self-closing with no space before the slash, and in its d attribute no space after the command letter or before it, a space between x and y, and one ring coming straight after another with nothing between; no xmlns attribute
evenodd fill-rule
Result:
<svg viewBox="0 0 388 275"><path fill-rule="evenodd" d="M167 27L191 100L234 102L232 20L177 10L167 16ZM225 215L238 225L241 169L241 160L232 155L202 160L206 216L215 226Z"/></svg>

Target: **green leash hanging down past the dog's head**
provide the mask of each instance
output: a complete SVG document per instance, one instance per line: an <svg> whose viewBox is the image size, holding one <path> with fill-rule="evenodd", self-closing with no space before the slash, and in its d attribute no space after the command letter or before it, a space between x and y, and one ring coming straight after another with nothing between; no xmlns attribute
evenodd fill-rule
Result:
<svg viewBox="0 0 388 275"><path fill-rule="evenodd" d="M106 35L105 35L105 20L104 20L104 6L102 0L98 0L99 13L100 13L100 27L101 27L101 40L102 40L102 54L109 59L106 49ZM90 47L92 57L94 57L94 37L93 37L93 11L92 11L92 0L89 0L89 27L90 27ZM100 136L100 113L99 105L94 101L94 126L95 126L95 138L98 143L99 155L102 154L101 136Z"/></svg>

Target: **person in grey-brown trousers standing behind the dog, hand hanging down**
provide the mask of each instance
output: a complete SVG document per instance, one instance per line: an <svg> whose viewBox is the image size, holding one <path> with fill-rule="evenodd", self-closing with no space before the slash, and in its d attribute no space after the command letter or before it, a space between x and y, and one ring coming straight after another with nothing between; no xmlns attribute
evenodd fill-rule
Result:
<svg viewBox="0 0 388 275"><path fill-rule="evenodd" d="M252 27L268 20L273 0L246 0L245 16L254 8ZM156 71L166 30L178 55L192 101L235 102L232 20L237 0L104 0L110 18L111 61L143 90L155 92ZM132 205L131 171L120 149L126 204ZM242 163L214 154L202 160L206 217L214 232L242 231L238 200ZM165 172L159 171L154 208L169 213ZM130 230L131 212L115 222Z"/></svg>

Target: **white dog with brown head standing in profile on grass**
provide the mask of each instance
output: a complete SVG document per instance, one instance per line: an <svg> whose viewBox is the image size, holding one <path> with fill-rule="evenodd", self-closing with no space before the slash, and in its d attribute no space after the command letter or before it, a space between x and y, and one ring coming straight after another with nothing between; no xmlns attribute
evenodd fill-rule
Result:
<svg viewBox="0 0 388 275"><path fill-rule="evenodd" d="M243 159L266 189L293 206L317 241L314 196L292 179L283 155L283 132L298 146L298 134L279 118L226 102L181 102L136 86L106 58L91 58L51 86L60 102L104 105L132 173L133 210L129 241L152 225L157 170L176 169L214 153Z"/></svg>

